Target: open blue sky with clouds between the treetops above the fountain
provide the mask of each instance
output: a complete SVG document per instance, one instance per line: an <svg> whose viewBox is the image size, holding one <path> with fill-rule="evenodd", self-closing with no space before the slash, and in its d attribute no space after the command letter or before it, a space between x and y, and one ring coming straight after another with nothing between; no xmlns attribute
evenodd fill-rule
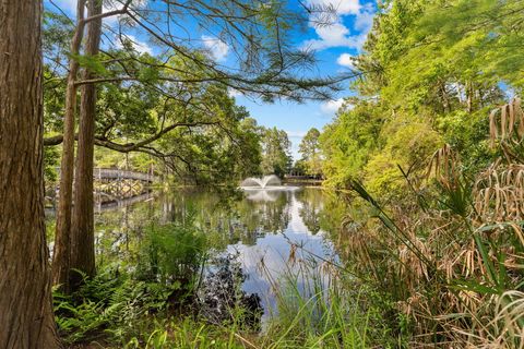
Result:
<svg viewBox="0 0 524 349"><path fill-rule="evenodd" d="M324 74L336 74L352 69L352 57L359 53L369 32L376 12L376 3L362 0L311 0L310 4L333 5L337 9L338 21L332 26L314 28L301 37L299 45L310 46L317 50L318 70ZM294 158L299 158L298 144L310 128L321 130L331 122L343 98L349 96L347 91L326 103L310 101L302 105L276 103L262 105L237 97L257 121L266 127L285 130L293 142Z"/></svg>

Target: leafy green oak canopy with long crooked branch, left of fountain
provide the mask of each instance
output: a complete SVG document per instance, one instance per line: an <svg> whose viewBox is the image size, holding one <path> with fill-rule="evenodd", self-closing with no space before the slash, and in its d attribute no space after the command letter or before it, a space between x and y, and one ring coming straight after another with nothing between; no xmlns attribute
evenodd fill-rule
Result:
<svg viewBox="0 0 524 349"><path fill-rule="evenodd" d="M235 104L226 86L194 77L195 72L205 74L205 67L180 55L163 62L148 56L129 60L128 53L119 49L75 58L109 81L97 84L95 143L106 148L96 151L97 166L147 171L155 164L166 178L191 184L231 185L260 172L258 127L247 121L248 111ZM126 73L135 74L138 82L111 82L123 68L105 64L118 59L129 60ZM44 104L45 131L51 136L61 132L66 87L62 72L53 68L46 64ZM195 81L172 83L187 79Z"/></svg>

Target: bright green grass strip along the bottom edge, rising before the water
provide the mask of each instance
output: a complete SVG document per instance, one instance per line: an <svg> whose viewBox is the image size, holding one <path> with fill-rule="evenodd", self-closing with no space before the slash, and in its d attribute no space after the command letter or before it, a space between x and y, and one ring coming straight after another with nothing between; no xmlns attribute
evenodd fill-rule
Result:
<svg viewBox="0 0 524 349"><path fill-rule="evenodd" d="M191 317L171 320L158 323L156 329L142 338L133 338L128 347L356 349L398 344L384 326L380 310L368 306L369 299L364 300L369 297L367 291L343 286L354 280L346 279L338 272L340 266L320 263L314 257L293 261L291 253L289 266L277 278L265 266L261 267L276 299L276 309L262 332L249 332L241 323L241 310L231 309L233 322L227 324Z"/></svg>

